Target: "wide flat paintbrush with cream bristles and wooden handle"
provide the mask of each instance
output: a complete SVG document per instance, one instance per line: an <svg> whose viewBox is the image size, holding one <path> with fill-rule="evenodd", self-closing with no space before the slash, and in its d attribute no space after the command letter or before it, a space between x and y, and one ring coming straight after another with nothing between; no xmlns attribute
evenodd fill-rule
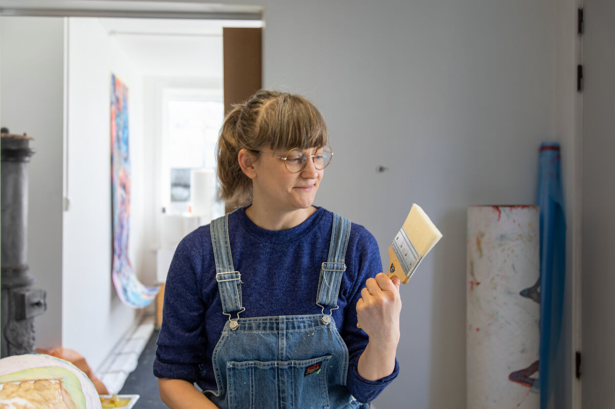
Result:
<svg viewBox="0 0 615 409"><path fill-rule="evenodd" d="M442 238L442 233L432 223L426 212L413 203L403 222L402 228L389 246L389 272L387 276L399 277L403 284L408 282L423 257Z"/></svg>

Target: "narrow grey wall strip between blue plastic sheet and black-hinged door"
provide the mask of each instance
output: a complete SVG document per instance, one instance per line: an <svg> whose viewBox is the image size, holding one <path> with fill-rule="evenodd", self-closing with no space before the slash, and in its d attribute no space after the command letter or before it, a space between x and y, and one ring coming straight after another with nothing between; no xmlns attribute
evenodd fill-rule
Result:
<svg viewBox="0 0 615 409"><path fill-rule="evenodd" d="M574 353L581 349L581 202L582 202L582 94L576 90L576 66L581 61L577 34L577 0L555 2L556 58L555 138L561 144L561 181L566 211L566 283L562 322L563 362L555 383L556 408L580 408L581 382L576 379Z"/></svg>

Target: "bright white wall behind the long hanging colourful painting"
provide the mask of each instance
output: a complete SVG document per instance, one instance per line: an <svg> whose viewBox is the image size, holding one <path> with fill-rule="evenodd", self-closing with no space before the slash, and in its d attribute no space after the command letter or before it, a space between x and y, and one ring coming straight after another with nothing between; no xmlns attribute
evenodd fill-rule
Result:
<svg viewBox="0 0 615 409"><path fill-rule="evenodd" d="M142 79L98 18L68 21L68 198L64 216L63 344L97 368L139 311L125 306L111 281L111 73L128 87L131 165L129 254L142 281ZM81 290L75 290L81 289Z"/></svg>

